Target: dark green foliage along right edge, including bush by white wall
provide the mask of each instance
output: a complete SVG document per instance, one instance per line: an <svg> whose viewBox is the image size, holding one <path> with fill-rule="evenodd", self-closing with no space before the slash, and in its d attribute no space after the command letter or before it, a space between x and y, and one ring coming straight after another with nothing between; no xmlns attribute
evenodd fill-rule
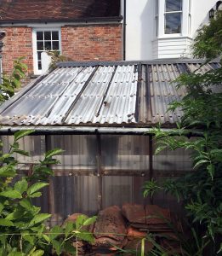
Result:
<svg viewBox="0 0 222 256"><path fill-rule="evenodd" d="M221 36L222 15L219 13L198 32L193 46L196 57L206 57L209 61L221 55ZM195 229L197 224L196 236L207 238L212 247L208 255L215 255L222 247L222 67L204 74L199 70L182 74L174 82L178 88L185 87L188 93L181 102L172 102L168 111L180 108L183 117L173 131L153 129L156 153L164 148L191 150L193 172L162 184L151 181L145 185L144 194L153 195L161 187L182 201Z"/></svg>

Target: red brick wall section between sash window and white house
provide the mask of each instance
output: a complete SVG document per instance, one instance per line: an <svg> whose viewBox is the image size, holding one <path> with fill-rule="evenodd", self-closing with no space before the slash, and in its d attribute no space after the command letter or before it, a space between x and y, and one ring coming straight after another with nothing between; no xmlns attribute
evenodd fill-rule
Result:
<svg viewBox="0 0 222 256"><path fill-rule="evenodd" d="M62 55L73 61L122 60L122 25L64 26Z"/></svg>

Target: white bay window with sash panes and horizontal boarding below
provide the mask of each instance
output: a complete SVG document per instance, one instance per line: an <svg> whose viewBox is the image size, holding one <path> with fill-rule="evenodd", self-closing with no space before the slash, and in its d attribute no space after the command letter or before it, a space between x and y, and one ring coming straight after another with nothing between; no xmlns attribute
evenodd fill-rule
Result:
<svg viewBox="0 0 222 256"><path fill-rule="evenodd" d="M190 58L191 0L156 0L153 59Z"/></svg>

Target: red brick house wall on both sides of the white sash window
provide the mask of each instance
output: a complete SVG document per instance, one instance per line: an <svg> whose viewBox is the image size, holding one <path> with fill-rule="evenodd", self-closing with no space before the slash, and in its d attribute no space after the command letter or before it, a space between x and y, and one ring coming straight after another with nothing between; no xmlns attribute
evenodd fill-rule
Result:
<svg viewBox="0 0 222 256"><path fill-rule="evenodd" d="M28 73L33 73L31 27L3 27L3 72L10 73L14 59L25 56ZM62 55L73 61L122 60L122 25L61 27Z"/></svg>

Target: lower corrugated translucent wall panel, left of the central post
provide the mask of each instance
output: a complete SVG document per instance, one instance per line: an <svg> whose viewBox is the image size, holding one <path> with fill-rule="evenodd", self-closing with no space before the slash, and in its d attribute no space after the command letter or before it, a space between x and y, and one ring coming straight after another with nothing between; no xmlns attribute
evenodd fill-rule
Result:
<svg viewBox="0 0 222 256"><path fill-rule="evenodd" d="M51 204L54 221L65 220L72 213L94 214L98 209L98 178L60 176L52 178Z"/></svg>

